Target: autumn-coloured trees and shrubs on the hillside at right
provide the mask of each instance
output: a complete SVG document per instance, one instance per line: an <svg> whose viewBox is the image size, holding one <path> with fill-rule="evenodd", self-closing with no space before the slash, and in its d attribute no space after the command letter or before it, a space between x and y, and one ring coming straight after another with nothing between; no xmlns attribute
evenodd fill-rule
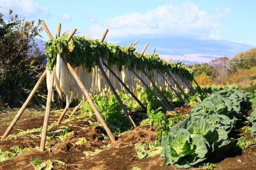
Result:
<svg viewBox="0 0 256 170"><path fill-rule="evenodd" d="M210 63L188 65L199 85L232 85L253 91L256 88L256 48L234 58L220 57Z"/></svg>

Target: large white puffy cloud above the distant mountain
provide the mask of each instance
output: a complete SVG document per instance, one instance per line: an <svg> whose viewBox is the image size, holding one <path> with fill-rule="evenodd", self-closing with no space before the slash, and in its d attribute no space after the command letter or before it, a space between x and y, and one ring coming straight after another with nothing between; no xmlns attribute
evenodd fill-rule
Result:
<svg viewBox="0 0 256 170"><path fill-rule="evenodd" d="M110 30L108 37L111 39L136 36L216 39L218 35L215 30L220 27L220 19L228 13L228 9L225 12L216 12L216 15L209 15L190 2L176 6L164 5L144 14L130 12L116 16L106 20L103 25L94 25L90 32L98 38L104 29L108 28Z"/></svg>

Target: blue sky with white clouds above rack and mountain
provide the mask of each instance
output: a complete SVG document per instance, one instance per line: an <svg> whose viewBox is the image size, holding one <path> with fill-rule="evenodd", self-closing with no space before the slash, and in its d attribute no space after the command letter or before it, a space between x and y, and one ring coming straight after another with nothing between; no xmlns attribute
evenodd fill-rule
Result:
<svg viewBox="0 0 256 170"><path fill-rule="evenodd" d="M188 37L226 39L256 45L255 0L0 0L28 20L44 20L52 34L73 27L81 35L99 39L108 28L107 40ZM47 40L43 32L44 40Z"/></svg>

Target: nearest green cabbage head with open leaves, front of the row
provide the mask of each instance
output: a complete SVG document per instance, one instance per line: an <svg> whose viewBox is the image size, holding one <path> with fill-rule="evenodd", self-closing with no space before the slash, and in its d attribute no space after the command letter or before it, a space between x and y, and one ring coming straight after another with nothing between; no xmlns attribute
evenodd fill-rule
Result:
<svg viewBox="0 0 256 170"><path fill-rule="evenodd" d="M173 136L162 139L161 156L165 163L175 165L178 168L190 168L190 166L202 162L207 158L210 144L204 137L191 137L189 131L180 128Z"/></svg>

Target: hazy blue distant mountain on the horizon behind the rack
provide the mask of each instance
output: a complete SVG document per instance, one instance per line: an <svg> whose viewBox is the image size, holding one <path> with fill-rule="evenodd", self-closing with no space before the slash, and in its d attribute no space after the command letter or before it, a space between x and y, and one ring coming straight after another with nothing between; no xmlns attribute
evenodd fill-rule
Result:
<svg viewBox="0 0 256 170"><path fill-rule="evenodd" d="M129 45L134 40L121 41L118 45ZM146 43L149 43L145 53L156 53L164 59L172 58L172 61L181 60L186 55L184 63L206 63L218 57L232 58L236 54L255 48L253 45L234 43L226 40L212 39L184 39L184 38L159 38L139 39L135 45L137 51L142 51Z"/></svg>

